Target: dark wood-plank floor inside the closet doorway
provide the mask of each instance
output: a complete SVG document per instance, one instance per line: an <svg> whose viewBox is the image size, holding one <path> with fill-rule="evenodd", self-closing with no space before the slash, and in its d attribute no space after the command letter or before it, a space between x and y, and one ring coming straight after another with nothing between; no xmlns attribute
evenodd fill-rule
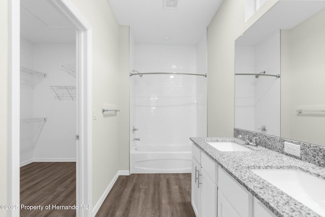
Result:
<svg viewBox="0 0 325 217"><path fill-rule="evenodd" d="M31 163L20 168L20 204L76 204L76 163ZM20 210L20 216L76 216L75 210Z"/></svg>

